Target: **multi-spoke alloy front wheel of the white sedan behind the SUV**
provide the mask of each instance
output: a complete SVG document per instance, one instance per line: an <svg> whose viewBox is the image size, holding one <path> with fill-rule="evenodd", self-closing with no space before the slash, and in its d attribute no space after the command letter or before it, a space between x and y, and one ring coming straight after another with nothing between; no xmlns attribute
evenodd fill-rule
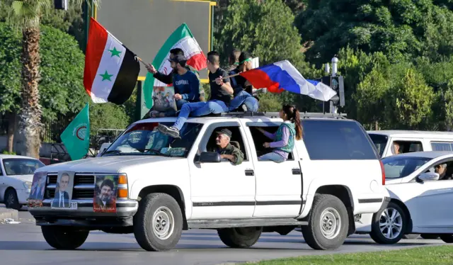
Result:
<svg viewBox="0 0 453 265"><path fill-rule="evenodd" d="M406 231L406 212L396 203L374 213L369 235L378 244L395 244Z"/></svg>

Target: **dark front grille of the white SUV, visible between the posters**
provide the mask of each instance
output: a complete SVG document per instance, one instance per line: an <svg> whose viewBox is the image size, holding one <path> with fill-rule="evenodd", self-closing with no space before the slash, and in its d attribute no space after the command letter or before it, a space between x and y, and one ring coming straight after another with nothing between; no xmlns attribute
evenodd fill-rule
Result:
<svg viewBox="0 0 453 265"><path fill-rule="evenodd" d="M57 185L57 174L47 174L47 186L45 199L52 199L55 196ZM74 187L72 188L72 199L92 199L94 197L95 176L92 174L75 174Z"/></svg>

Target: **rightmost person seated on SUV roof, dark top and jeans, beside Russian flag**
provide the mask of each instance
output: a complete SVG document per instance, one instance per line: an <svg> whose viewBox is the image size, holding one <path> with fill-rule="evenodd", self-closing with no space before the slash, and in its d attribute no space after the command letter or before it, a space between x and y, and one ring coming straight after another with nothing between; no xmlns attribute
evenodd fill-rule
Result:
<svg viewBox="0 0 453 265"><path fill-rule="evenodd" d="M239 56L239 66L236 69L229 72L229 75L239 74L252 69L252 57L248 52L241 52ZM258 111L258 100L254 98L253 86L247 81L247 79L240 75L231 77L231 84L234 89L234 98L230 103L229 111L234 111L239 106L243 105L246 107L244 111Z"/></svg>

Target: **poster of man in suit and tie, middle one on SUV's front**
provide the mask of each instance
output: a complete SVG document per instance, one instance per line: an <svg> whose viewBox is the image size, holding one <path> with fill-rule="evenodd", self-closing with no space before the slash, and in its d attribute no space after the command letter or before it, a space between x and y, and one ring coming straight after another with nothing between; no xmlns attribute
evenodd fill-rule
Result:
<svg viewBox="0 0 453 265"><path fill-rule="evenodd" d="M74 186L74 172L58 172L57 187L52 200L52 208L76 208L76 203L71 203L72 187Z"/></svg>

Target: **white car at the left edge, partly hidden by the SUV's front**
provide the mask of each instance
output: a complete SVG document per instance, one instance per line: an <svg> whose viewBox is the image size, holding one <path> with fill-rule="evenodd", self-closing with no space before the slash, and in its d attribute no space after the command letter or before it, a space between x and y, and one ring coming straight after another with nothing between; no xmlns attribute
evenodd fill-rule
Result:
<svg viewBox="0 0 453 265"><path fill-rule="evenodd" d="M0 154L0 203L16 210L27 204L33 173L44 166L33 157Z"/></svg>

